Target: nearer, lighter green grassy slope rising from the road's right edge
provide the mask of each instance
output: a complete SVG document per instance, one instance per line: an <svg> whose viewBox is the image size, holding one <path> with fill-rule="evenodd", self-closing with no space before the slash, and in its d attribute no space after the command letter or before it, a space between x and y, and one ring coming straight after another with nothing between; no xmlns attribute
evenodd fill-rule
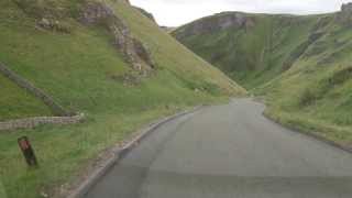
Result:
<svg viewBox="0 0 352 198"><path fill-rule="evenodd" d="M321 31L304 57L256 91L266 96L271 118L351 146L352 32L339 24Z"/></svg>

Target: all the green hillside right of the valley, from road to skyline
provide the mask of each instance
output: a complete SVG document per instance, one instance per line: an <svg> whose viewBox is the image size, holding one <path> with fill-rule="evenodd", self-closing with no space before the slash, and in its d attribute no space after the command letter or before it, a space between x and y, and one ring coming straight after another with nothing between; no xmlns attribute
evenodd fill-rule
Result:
<svg viewBox="0 0 352 198"><path fill-rule="evenodd" d="M265 96L267 116L351 146L351 8L308 16L227 12L173 34L253 94Z"/></svg>

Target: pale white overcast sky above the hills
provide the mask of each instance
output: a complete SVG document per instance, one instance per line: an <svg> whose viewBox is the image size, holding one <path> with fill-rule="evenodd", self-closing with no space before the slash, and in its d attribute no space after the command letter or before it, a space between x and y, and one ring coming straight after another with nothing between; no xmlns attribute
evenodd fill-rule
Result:
<svg viewBox="0 0 352 198"><path fill-rule="evenodd" d="M130 0L161 25L178 26L222 11L312 14L340 10L352 0Z"/></svg>

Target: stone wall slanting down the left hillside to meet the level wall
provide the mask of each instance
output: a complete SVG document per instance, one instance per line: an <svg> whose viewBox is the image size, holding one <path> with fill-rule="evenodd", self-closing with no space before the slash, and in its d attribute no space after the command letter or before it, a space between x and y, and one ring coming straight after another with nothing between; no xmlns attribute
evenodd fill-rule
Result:
<svg viewBox="0 0 352 198"><path fill-rule="evenodd" d="M0 74L4 75L7 78L12 80L19 87L25 89L34 97L41 99L46 106L48 106L55 116L73 116L74 113L66 111L62 106L54 101L52 97L46 95L43 90L34 87L30 81L25 80L18 74L13 73L6 65L0 63Z"/></svg>

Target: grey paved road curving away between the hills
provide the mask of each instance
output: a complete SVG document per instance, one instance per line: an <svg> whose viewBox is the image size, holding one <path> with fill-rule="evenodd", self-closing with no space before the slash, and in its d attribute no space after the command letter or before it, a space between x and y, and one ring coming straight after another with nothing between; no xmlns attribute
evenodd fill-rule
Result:
<svg viewBox="0 0 352 198"><path fill-rule="evenodd" d="M250 99L160 127L87 198L351 198L352 154L284 129Z"/></svg>

